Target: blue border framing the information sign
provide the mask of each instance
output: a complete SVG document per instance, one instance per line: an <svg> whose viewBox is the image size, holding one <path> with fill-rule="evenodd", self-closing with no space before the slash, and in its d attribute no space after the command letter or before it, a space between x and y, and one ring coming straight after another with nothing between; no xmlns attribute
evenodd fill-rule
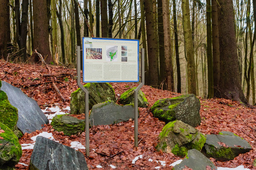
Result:
<svg viewBox="0 0 256 170"><path fill-rule="evenodd" d="M137 75L137 81L85 81L85 68L84 68L84 64L85 64L85 39L95 39L95 40L122 40L122 41L137 41L137 61L138 61L138 66L137 66L137 71L138 71L138 75ZM108 38L99 38L99 37L83 37L83 83L121 83L121 82L139 82L140 80L140 51L139 51L139 40L132 40L132 39L108 39Z"/></svg>

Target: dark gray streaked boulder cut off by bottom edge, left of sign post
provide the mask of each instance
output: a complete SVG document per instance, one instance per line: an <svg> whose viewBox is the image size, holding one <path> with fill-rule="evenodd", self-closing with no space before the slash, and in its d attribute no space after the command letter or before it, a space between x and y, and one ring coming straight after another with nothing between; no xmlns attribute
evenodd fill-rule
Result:
<svg viewBox="0 0 256 170"><path fill-rule="evenodd" d="M30 159L30 170L88 169L85 156L73 148L37 137Z"/></svg>

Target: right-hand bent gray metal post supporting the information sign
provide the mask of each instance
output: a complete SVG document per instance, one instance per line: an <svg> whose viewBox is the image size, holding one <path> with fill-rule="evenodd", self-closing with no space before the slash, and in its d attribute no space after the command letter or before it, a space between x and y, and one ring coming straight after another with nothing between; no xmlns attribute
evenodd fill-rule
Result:
<svg viewBox="0 0 256 170"><path fill-rule="evenodd" d="M134 109L135 109L135 118L134 118L134 145L135 147L138 147L138 92L140 88L144 85L145 83L145 76L144 76L144 70L145 70L145 65L144 65L144 57L145 57L145 50L144 48L141 49L141 83L137 88L134 90Z"/></svg>

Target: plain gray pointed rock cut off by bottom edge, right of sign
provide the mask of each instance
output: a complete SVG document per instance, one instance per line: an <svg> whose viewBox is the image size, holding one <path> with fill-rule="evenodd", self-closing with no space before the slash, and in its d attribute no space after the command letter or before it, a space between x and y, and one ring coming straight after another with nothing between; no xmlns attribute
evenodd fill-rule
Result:
<svg viewBox="0 0 256 170"><path fill-rule="evenodd" d="M187 152L187 156L185 159L182 160L181 163L175 165L173 169L175 170L182 170L184 168L191 168L191 169L215 169L215 165L209 160L206 156L204 156L198 150L192 149Z"/></svg>

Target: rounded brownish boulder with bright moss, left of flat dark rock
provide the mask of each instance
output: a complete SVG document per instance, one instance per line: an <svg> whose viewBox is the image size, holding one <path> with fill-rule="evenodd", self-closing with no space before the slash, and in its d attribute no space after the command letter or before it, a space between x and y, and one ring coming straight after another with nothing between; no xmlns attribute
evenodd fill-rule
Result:
<svg viewBox="0 0 256 170"><path fill-rule="evenodd" d="M173 121L163 127L156 148L158 151L185 156L192 148L201 151L205 140L204 135L192 126L182 121Z"/></svg>

